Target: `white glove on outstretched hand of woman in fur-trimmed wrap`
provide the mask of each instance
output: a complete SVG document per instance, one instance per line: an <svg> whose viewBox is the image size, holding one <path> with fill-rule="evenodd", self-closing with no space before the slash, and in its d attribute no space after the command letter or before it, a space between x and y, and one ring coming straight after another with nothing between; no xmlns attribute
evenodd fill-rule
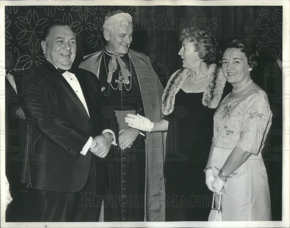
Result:
<svg viewBox="0 0 290 228"><path fill-rule="evenodd" d="M154 123L151 122L146 117L143 117L139 114L127 114L128 117L125 117L125 122L128 123L129 127L136 128L140 131L148 131L151 132Z"/></svg>

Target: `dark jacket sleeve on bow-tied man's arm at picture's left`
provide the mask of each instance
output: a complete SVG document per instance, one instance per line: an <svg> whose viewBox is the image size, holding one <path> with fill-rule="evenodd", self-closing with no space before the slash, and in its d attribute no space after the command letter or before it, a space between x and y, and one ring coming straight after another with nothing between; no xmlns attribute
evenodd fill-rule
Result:
<svg viewBox="0 0 290 228"><path fill-rule="evenodd" d="M26 74L23 95L23 108L35 120L35 129L45 140L77 156L90 135L78 129L68 119L55 114L51 99L50 84L43 78ZM61 93L59 93L61 95ZM71 110L73 112L74 110Z"/></svg>

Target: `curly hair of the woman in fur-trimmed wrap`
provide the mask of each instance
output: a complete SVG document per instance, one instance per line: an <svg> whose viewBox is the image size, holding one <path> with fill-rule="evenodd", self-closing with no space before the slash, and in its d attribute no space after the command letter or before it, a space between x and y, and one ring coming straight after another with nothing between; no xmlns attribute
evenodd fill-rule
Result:
<svg viewBox="0 0 290 228"><path fill-rule="evenodd" d="M210 65L219 59L220 49L218 41L215 39L211 31L201 30L199 28L184 28L180 32L180 41L187 39L193 42L197 56Z"/></svg>

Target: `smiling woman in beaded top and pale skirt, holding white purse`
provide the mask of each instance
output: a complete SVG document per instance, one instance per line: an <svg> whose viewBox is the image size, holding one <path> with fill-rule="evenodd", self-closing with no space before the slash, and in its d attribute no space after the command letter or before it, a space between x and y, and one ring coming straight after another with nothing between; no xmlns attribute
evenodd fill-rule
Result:
<svg viewBox="0 0 290 228"><path fill-rule="evenodd" d="M268 178L259 152L272 113L267 94L250 77L257 59L252 42L244 38L230 39L222 57L222 71L233 90L214 115L206 184L218 195L222 191L224 221L271 220Z"/></svg>

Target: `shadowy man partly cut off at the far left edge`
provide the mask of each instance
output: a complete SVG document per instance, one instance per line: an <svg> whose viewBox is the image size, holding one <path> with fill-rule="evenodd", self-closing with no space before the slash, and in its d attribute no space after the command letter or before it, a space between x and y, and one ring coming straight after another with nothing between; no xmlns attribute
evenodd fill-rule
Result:
<svg viewBox="0 0 290 228"><path fill-rule="evenodd" d="M15 70L15 54L11 49L5 49L5 168L13 201L6 211L6 221L19 221L23 210L23 199L20 198L20 173L22 164L20 120L25 114L19 104L22 96L22 71Z"/></svg>

